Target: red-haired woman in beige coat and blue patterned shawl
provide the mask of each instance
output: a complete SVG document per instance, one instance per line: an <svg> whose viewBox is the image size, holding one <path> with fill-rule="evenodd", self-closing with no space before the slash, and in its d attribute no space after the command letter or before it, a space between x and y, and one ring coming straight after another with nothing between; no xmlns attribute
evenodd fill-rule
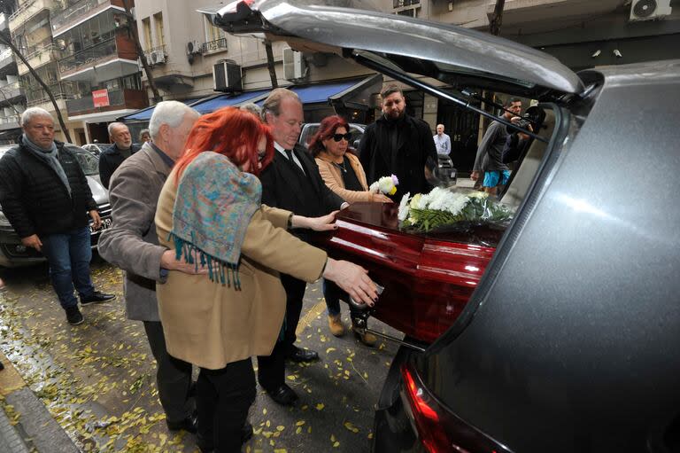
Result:
<svg viewBox="0 0 680 453"><path fill-rule="evenodd" d="M333 215L310 219L263 207L256 175L273 159L267 126L227 107L202 116L158 199L160 243L208 268L170 271L158 285L158 311L170 355L200 367L197 443L240 451L255 398L251 355L269 355L282 329L286 294L279 271L313 282L336 280L372 303L366 270L336 262L286 228L334 228Z"/></svg>

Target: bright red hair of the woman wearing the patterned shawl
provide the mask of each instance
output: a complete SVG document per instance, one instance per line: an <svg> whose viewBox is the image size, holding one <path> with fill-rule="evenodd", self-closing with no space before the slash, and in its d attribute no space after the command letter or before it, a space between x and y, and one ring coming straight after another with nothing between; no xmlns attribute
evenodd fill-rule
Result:
<svg viewBox="0 0 680 453"><path fill-rule="evenodd" d="M259 139L267 139L267 152L259 160ZM274 138L269 127L259 121L252 113L235 107L224 107L213 113L201 116L194 124L184 145L185 151L177 160L177 183L184 169L197 155L213 151L227 156L236 167L249 163L249 172L258 175L261 168L267 167L274 159Z"/></svg>

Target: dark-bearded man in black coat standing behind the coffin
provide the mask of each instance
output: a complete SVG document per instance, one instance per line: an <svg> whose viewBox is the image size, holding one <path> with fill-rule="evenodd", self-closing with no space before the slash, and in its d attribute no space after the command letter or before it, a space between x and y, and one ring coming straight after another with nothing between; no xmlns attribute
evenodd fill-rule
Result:
<svg viewBox="0 0 680 453"><path fill-rule="evenodd" d="M383 176L396 175L399 201L410 192L427 193L429 181L437 168L437 147L427 122L406 114L406 99L397 85L388 85L380 93L383 116L366 128L359 143L359 160L366 171L368 184Z"/></svg>

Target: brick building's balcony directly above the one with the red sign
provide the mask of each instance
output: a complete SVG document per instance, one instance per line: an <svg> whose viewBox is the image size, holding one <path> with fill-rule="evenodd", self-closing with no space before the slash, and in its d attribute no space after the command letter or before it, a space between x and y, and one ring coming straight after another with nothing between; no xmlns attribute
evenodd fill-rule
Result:
<svg viewBox="0 0 680 453"><path fill-rule="evenodd" d="M135 44L122 34L59 60L62 80L97 83L138 72Z"/></svg>

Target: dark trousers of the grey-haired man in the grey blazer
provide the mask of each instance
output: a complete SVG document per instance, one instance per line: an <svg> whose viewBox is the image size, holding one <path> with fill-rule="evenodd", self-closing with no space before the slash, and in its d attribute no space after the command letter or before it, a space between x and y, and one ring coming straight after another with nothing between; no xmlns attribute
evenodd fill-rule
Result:
<svg viewBox="0 0 680 453"><path fill-rule="evenodd" d="M191 363L167 354L166 337L159 321L144 321L144 331L151 346L151 354L156 359L156 385L160 404L166 411L168 421L182 421L194 411L193 399L189 398Z"/></svg>

